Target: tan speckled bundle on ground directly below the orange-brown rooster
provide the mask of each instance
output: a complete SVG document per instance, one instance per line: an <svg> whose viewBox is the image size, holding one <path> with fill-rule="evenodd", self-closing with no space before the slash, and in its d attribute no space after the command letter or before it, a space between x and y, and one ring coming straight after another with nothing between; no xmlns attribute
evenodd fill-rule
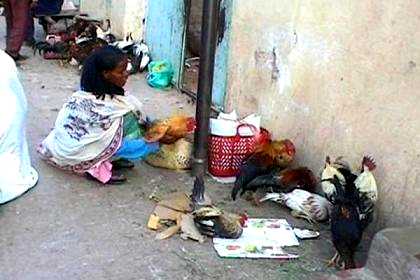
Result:
<svg viewBox="0 0 420 280"><path fill-rule="evenodd" d="M161 145L159 152L149 155L146 162L154 167L185 170L191 167L192 143L179 139L174 144Z"/></svg>

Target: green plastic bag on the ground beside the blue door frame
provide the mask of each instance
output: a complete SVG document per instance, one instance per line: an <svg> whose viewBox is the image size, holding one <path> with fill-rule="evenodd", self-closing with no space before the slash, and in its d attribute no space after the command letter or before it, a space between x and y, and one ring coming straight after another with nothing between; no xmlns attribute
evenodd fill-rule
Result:
<svg viewBox="0 0 420 280"><path fill-rule="evenodd" d="M167 60L152 61L148 65L147 83L154 88L166 89L170 86L174 70Z"/></svg>

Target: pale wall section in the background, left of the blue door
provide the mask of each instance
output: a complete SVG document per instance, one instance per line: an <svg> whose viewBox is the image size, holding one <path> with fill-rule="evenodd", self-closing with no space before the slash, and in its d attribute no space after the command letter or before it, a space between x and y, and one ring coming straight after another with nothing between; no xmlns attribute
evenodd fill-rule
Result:
<svg viewBox="0 0 420 280"><path fill-rule="evenodd" d="M80 10L98 19L110 19L112 32L124 37L132 32L135 39L143 38L146 0L81 0Z"/></svg>

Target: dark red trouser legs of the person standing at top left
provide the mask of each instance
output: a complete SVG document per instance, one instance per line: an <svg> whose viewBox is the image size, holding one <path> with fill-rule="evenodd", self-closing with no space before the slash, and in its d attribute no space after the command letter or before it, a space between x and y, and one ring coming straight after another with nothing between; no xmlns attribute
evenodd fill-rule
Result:
<svg viewBox="0 0 420 280"><path fill-rule="evenodd" d="M7 37L6 52L14 59L20 57L19 51L26 37L26 27L30 9L29 0L8 0L11 12L11 28Z"/></svg>

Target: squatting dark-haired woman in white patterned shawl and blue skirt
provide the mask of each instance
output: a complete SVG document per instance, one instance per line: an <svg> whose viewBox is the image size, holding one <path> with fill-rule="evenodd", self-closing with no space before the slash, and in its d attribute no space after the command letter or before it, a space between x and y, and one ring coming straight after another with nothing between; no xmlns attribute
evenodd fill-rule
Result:
<svg viewBox="0 0 420 280"><path fill-rule="evenodd" d="M39 145L48 163L86 175L104 184L121 183L117 168L157 152L159 144L144 141L142 104L126 94L127 57L106 46L85 61L81 90L59 111L54 129Z"/></svg>

